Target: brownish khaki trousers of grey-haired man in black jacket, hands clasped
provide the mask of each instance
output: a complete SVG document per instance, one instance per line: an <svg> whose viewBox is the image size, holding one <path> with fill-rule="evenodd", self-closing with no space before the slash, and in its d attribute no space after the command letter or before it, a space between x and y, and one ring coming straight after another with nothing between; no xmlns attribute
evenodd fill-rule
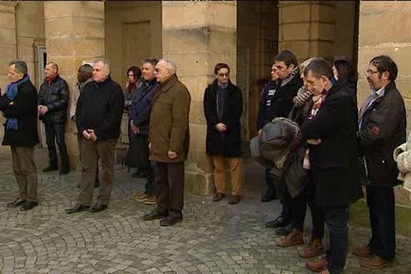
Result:
<svg viewBox="0 0 411 274"><path fill-rule="evenodd" d="M114 149L116 140L97 140L93 142L82 139L82 181L79 187L79 203L91 206L96 169L101 159L100 194L97 202L108 205L114 183Z"/></svg>

